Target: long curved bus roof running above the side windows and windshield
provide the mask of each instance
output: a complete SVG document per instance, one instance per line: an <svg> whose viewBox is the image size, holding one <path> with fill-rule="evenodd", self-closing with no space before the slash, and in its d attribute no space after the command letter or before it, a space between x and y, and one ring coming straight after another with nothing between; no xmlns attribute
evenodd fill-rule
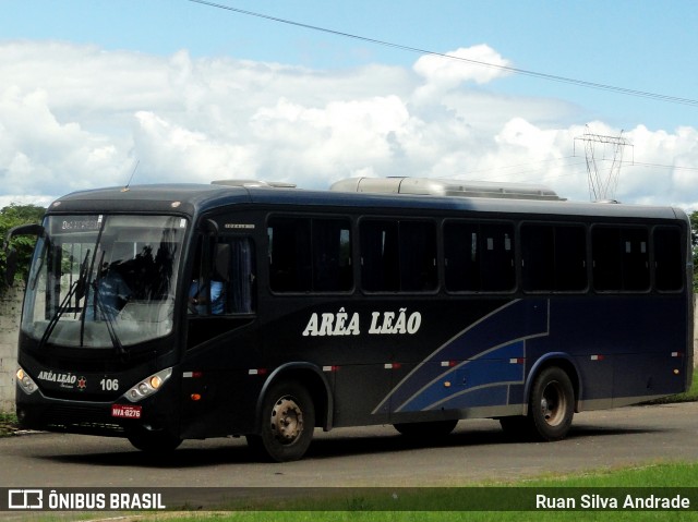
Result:
<svg viewBox="0 0 698 522"><path fill-rule="evenodd" d="M556 196L557 197L557 196ZM557 197L452 197L401 193L368 193L311 191L290 187L219 185L219 184L153 184L129 189L111 187L74 192L53 202L49 214L70 213L158 213L198 215L222 206L242 204L289 207L294 210L325 207L333 209L413 209L420 215L430 211L448 214L530 214L558 216L599 216L617 218L654 218L686 220L683 210L669 206L645 206L610 203L573 203Z"/></svg>

